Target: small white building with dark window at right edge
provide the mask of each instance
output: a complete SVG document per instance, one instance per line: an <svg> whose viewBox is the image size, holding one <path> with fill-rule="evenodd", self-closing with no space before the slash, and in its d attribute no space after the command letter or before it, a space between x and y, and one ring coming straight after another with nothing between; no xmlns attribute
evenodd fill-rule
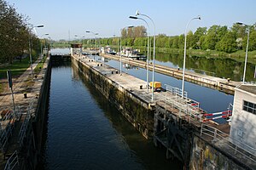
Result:
<svg viewBox="0 0 256 170"><path fill-rule="evenodd" d="M256 156L256 86L235 88L230 142Z"/></svg>

